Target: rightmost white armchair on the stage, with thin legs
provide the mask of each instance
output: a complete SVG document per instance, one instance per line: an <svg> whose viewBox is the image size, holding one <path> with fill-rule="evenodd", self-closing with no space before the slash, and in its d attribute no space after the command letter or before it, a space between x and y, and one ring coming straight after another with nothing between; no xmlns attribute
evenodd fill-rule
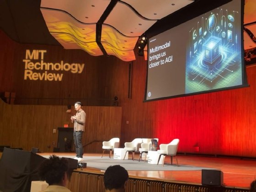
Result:
<svg viewBox="0 0 256 192"><path fill-rule="evenodd" d="M180 142L180 139L173 139L171 141L171 143L169 143L169 144L160 144L160 146L159 146L160 150L157 150L157 153L159 154L157 165L159 164L159 160L161 158L161 155L164 155L163 166L165 164L165 156L166 155L171 157L171 165L172 165L172 157L176 156L178 146L179 146L179 142ZM177 157L176 157L176 162L177 162L177 165L178 165Z"/></svg>

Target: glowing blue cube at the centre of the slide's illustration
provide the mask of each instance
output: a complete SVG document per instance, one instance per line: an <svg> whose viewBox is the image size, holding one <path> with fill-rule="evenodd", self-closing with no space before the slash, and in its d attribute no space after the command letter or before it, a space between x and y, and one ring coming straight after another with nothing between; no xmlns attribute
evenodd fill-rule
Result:
<svg viewBox="0 0 256 192"><path fill-rule="evenodd" d="M211 36L203 43L203 61L208 64L213 64L219 58L219 46L221 46L221 38Z"/></svg>

